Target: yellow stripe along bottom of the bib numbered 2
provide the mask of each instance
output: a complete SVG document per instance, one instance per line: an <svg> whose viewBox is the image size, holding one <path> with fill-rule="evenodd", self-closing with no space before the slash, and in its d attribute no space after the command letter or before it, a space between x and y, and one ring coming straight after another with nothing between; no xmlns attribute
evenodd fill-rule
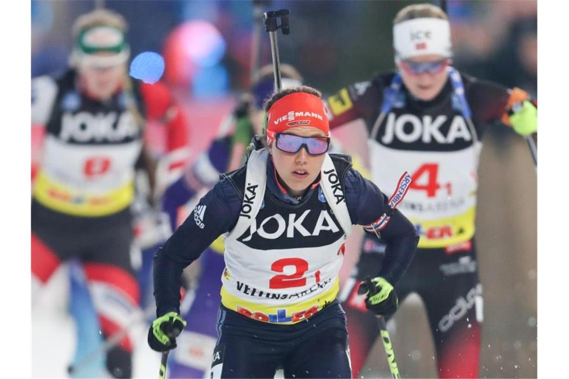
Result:
<svg viewBox="0 0 569 379"><path fill-rule="evenodd" d="M230 294L225 289L224 283L221 287L221 303L230 310L258 321L276 324L295 324L313 316L322 310L325 305L332 302L336 298L339 288L340 280L336 277L332 287L316 297L291 305L270 306L240 299Z"/></svg>

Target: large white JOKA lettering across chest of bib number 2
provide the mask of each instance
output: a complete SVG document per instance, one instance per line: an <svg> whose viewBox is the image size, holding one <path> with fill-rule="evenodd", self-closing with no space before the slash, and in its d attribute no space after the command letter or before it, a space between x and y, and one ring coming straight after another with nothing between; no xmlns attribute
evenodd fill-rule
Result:
<svg viewBox="0 0 569 379"><path fill-rule="evenodd" d="M244 202L243 207L245 207L246 205L248 204ZM310 213L310 211L311 211L310 209L305 210L304 213L299 216L299 218L296 218L296 213L291 213L288 215L288 222L287 220L284 219L283 215L277 213L262 220L261 224L258 227L257 227L257 219L253 219L253 223L251 223L251 226L249 227L249 236L242 239L241 241L243 242L250 241L255 233L257 233L261 238L274 240L282 236L285 231L287 238L294 238L295 230L300 232L300 234L303 237L318 236L320 235L321 231L327 231L327 230L333 233L340 231L340 229L338 228L338 226L336 225L336 223L334 222L332 216L328 213L328 211L322 210L320 211L318 220L316 220L314 230L310 232L302 224L302 222L304 221L306 216ZM250 218L250 215L248 213L250 213L250 206L247 214L244 214L243 208L241 209L242 216ZM265 230L265 225L269 223L271 220L277 222L277 230L275 230L274 232L267 232Z"/></svg>

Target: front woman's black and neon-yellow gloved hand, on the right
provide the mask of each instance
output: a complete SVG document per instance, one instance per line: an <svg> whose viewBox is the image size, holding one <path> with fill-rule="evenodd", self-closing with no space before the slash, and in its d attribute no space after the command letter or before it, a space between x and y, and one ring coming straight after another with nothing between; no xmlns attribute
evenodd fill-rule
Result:
<svg viewBox="0 0 569 379"><path fill-rule="evenodd" d="M390 316L395 313L399 300L393 286L384 278L366 278L357 293L366 294L365 306L378 316Z"/></svg>

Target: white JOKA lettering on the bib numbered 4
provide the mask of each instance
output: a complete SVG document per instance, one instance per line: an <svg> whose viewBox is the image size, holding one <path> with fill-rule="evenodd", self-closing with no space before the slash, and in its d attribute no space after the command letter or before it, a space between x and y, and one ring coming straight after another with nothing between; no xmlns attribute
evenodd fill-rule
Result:
<svg viewBox="0 0 569 379"><path fill-rule="evenodd" d="M412 114L402 114L397 117L394 113L390 113L387 117L385 134L382 136L381 142L390 144L394 138L405 143L413 143L421 139L424 143L430 143L431 140L434 140L441 144L452 144L457 139L472 140L468 126L460 115L453 117L448 134L444 136L439 128L447 122L447 119L445 115L438 115L434 120L432 116L425 115L421 120ZM409 130L407 127L406 131L407 125L410 125L411 129Z"/></svg>

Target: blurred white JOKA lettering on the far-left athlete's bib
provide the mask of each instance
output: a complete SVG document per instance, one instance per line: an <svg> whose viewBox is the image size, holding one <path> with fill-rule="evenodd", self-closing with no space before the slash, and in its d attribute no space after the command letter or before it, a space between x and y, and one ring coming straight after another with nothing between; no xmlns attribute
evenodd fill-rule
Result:
<svg viewBox="0 0 569 379"><path fill-rule="evenodd" d="M65 113L61 119L59 136L65 141L71 139L79 142L122 141L137 136L139 130L133 115L129 112L123 112L118 122L116 112L96 115L88 112Z"/></svg>

